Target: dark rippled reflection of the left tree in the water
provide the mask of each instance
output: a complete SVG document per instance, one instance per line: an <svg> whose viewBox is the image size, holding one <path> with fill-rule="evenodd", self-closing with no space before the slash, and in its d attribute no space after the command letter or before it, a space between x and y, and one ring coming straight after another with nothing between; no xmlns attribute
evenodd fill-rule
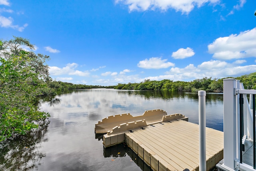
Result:
<svg viewBox="0 0 256 171"><path fill-rule="evenodd" d="M19 135L13 139L0 142L0 170L33 170L40 165L40 160L46 154L39 152L40 142L48 141L44 137L48 129L47 123L31 131L28 135Z"/></svg>

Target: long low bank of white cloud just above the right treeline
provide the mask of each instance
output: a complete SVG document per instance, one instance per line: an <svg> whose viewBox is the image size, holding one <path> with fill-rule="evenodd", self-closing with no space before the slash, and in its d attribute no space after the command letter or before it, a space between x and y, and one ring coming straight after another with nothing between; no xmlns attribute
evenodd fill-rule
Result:
<svg viewBox="0 0 256 171"><path fill-rule="evenodd" d="M189 64L184 68L173 67L168 72L157 75L157 76L148 76L145 78L139 77L139 75L121 75L115 76L114 78L108 79L98 79L94 81L94 85L116 85L118 83L127 84L127 83L140 83L144 80L174 80L174 81L192 81L195 79L201 79L204 77L212 78L226 78L226 77L237 77L244 74L250 74L256 71L256 65L248 66L237 66L239 62L244 62L243 60L228 63L219 60L211 60L202 62L198 66Z"/></svg>

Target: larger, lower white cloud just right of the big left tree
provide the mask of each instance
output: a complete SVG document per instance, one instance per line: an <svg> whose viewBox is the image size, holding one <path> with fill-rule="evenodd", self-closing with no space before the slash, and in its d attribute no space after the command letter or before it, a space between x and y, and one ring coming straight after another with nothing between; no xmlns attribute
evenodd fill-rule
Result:
<svg viewBox="0 0 256 171"><path fill-rule="evenodd" d="M82 71L75 70L75 68L77 68L77 67L78 67L78 64L76 64L76 63L67 64L63 68L59 68L56 66L50 66L49 72L50 72L50 75L52 75L52 76L58 76L58 75L64 75L64 74L75 75L75 76L89 76L90 75L90 73L88 71L82 72Z"/></svg>

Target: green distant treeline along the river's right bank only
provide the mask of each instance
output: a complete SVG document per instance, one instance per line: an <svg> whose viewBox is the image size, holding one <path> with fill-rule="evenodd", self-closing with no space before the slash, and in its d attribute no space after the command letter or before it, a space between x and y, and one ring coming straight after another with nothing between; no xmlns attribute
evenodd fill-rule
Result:
<svg viewBox="0 0 256 171"><path fill-rule="evenodd" d="M190 82L173 80L150 81L145 80L140 83L118 84L115 89L134 89L134 90L167 90L167 91L198 91L223 92L223 79L202 78ZM236 77L244 84L245 89L256 89L256 72Z"/></svg>

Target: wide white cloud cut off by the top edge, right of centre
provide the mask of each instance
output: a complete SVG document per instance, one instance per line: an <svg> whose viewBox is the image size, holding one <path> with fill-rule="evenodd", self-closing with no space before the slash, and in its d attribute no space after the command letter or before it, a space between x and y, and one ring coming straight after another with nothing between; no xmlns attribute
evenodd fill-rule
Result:
<svg viewBox="0 0 256 171"><path fill-rule="evenodd" d="M182 14L188 14L195 6L201 7L206 3L216 4L219 0L115 0L115 2L128 5L130 12L156 9L166 11L172 8L181 11Z"/></svg>

